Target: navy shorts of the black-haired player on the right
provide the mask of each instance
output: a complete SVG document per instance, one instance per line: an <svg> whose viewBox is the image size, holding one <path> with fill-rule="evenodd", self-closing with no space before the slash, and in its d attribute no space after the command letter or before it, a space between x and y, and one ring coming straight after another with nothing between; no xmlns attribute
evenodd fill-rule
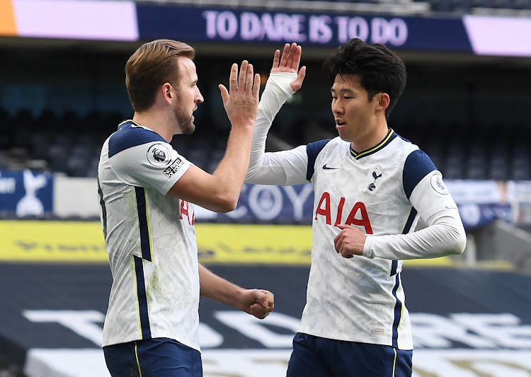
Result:
<svg viewBox="0 0 531 377"><path fill-rule="evenodd" d="M298 332L287 377L411 377L412 358L412 350Z"/></svg>

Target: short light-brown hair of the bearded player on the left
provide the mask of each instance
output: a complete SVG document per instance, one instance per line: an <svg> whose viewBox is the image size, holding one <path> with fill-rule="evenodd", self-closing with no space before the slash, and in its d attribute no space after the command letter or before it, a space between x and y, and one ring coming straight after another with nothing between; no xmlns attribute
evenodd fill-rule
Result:
<svg viewBox="0 0 531 377"><path fill-rule="evenodd" d="M127 60L125 86L135 112L151 108L156 90L164 83L176 85L179 56L193 59L195 50L176 40L153 40L140 46Z"/></svg>

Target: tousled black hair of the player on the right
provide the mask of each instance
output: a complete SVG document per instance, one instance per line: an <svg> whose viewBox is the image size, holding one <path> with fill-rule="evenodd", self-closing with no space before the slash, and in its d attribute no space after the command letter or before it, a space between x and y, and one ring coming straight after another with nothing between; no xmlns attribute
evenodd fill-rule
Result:
<svg viewBox="0 0 531 377"><path fill-rule="evenodd" d="M377 93L389 95L389 106L385 117L400 98L406 87L406 66L402 59L384 45L368 45L359 38L353 38L340 45L324 62L324 71L330 83L336 76L359 76L360 83L367 91L369 101Z"/></svg>

